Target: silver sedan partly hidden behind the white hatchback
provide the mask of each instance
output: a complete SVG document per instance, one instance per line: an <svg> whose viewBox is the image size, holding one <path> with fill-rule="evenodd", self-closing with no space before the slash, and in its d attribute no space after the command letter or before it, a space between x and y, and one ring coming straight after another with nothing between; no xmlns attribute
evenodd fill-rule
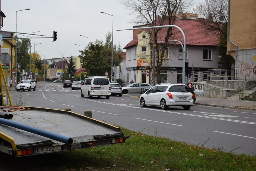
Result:
<svg viewBox="0 0 256 171"><path fill-rule="evenodd" d="M127 93L141 93L145 92L148 89L150 89L152 86L147 83L132 83L126 87L122 87L122 93L127 94Z"/></svg>

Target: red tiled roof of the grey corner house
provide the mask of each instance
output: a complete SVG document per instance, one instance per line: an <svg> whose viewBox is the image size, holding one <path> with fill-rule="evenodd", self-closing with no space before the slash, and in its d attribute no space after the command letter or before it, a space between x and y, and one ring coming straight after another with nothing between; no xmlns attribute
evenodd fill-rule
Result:
<svg viewBox="0 0 256 171"><path fill-rule="evenodd" d="M187 20L187 19L176 19L175 26L181 28L184 32L186 38L186 45L191 46L216 46L218 43L218 34L211 31L205 31L200 21L198 20ZM161 43L161 41L165 40L166 31L168 28L163 28L158 33L157 41ZM151 31L148 30L150 33ZM172 35L169 40L178 40L184 44L184 38L179 29L173 27ZM136 40L135 40L136 39ZM129 44L127 44L123 49L126 49L129 46L133 46L134 42L138 42L138 38L134 38ZM137 43L136 42L136 43ZM152 39L150 39L150 43L152 43ZM179 44L178 42L169 42L169 44Z"/></svg>

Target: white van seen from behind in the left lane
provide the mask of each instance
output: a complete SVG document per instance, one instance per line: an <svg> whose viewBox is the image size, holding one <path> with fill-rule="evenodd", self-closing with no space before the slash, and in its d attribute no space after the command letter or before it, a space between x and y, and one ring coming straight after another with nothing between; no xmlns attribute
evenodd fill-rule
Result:
<svg viewBox="0 0 256 171"><path fill-rule="evenodd" d="M92 76L84 79L84 82L81 87L81 97L84 95L88 96L91 99L93 96L105 96L106 99L109 99L110 92L110 82L108 77L105 76Z"/></svg>

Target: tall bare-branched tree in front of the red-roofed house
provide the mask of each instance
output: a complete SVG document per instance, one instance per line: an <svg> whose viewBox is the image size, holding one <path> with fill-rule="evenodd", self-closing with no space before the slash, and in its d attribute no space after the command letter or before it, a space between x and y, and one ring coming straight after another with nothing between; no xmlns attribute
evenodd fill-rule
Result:
<svg viewBox="0 0 256 171"><path fill-rule="evenodd" d="M183 8L188 7L190 0L123 0L122 3L130 10L130 13L135 14L136 18L133 23L141 26L164 26L173 25L175 22L177 11L181 11ZM160 32L162 30L162 32ZM154 37L154 47L156 52L154 53L155 61L151 64L155 65L155 73L157 83L161 82L160 70L163 65L163 58L165 58L165 50L168 45L169 38L172 37L173 28L167 29L156 28L151 29L151 39ZM163 34L165 39L163 42L158 42L158 35ZM154 83L153 83L154 85Z"/></svg>

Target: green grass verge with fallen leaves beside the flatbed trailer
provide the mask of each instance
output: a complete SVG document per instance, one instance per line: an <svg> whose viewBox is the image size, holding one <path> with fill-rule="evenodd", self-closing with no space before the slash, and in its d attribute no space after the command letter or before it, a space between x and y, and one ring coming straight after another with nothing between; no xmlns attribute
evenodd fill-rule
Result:
<svg viewBox="0 0 256 171"><path fill-rule="evenodd" d="M205 149L122 128L124 144L22 158L0 155L0 170L256 170L256 156ZM2 159L2 160L1 160Z"/></svg>

